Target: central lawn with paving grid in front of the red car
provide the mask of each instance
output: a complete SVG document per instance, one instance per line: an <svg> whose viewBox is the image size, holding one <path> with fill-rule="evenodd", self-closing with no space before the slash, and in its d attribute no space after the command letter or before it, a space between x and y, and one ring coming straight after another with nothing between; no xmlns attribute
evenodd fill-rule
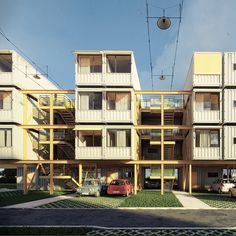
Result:
<svg viewBox="0 0 236 236"><path fill-rule="evenodd" d="M118 207L182 207L172 192L143 190L130 197L75 197L54 203L45 204L38 208L118 208Z"/></svg>

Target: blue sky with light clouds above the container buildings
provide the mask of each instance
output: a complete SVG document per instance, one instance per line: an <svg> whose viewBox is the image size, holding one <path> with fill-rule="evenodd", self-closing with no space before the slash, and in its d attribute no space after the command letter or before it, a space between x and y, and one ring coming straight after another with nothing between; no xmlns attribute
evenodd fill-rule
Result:
<svg viewBox="0 0 236 236"><path fill-rule="evenodd" d="M148 0L150 15L178 15L180 0ZM185 0L174 89L184 86L193 51L236 51L235 0ZM154 73L171 73L177 22L150 20ZM74 88L74 50L132 50L143 89L151 89L145 0L0 0L0 28L63 88ZM0 36L0 49L14 49ZM154 80L169 89L170 78Z"/></svg>

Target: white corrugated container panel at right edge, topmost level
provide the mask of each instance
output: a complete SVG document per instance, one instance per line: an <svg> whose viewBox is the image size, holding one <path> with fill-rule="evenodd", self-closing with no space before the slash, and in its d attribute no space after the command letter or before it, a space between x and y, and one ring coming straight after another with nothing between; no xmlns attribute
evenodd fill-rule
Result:
<svg viewBox="0 0 236 236"><path fill-rule="evenodd" d="M236 70L234 70L235 63L236 63L235 52L224 53L224 85L225 86L236 85Z"/></svg>

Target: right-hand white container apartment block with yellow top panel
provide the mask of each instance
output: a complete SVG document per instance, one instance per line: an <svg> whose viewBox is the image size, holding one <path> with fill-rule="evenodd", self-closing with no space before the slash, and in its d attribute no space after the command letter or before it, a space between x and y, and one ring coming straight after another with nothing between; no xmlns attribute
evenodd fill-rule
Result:
<svg viewBox="0 0 236 236"><path fill-rule="evenodd" d="M185 84L185 89L192 90L192 97L185 114L187 124L192 125L186 136L191 150L186 159L200 163L193 168L193 188L229 177L235 166L235 55L196 52L192 57Z"/></svg>

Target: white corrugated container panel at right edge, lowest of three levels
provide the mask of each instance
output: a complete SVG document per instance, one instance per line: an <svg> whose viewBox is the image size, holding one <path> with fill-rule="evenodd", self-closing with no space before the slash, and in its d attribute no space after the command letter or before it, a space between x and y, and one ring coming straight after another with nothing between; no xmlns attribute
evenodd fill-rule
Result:
<svg viewBox="0 0 236 236"><path fill-rule="evenodd" d="M236 138L236 127L224 126L224 159L225 160L236 159L236 144L234 144L234 138Z"/></svg>

